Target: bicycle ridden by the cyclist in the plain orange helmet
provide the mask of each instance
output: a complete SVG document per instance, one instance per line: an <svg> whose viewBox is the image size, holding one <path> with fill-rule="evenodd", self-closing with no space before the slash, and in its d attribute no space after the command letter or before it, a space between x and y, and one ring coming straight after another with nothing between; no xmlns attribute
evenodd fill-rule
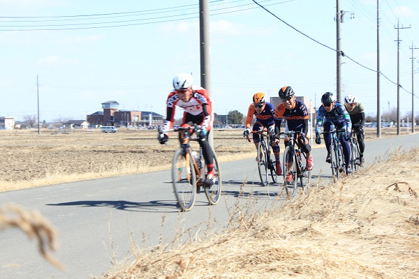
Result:
<svg viewBox="0 0 419 279"><path fill-rule="evenodd" d="M260 181L262 182L262 185L267 186L269 183L268 181L269 175L267 172L268 169L270 170L273 183L277 183L277 169L275 167L276 159L273 154L273 151L271 153L271 149L270 149L270 146L272 144L271 135L265 135L265 133L267 133L266 129L251 131L250 133L252 134L256 133L260 137L260 142L258 143L257 160L258 160L259 176L260 176ZM265 138L266 138L266 142L265 142ZM249 135L247 135L247 141L250 142Z"/></svg>

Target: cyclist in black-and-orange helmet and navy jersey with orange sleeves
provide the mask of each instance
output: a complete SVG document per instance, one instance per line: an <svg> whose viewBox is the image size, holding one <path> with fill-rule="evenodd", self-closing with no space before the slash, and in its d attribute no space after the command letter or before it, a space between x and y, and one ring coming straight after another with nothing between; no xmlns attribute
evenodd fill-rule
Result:
<svg viewBox="0 0 419 279"><path fill-rule="evenodd" d="M295 135L298 145L307 156L307 170L311 170L314 167L313 156L311 156L311 146L308 138L305 136L309 130L309 112L307 106L301 101L295 98L295 93L291 86L284 86L279 89L278 92L281 102L275 109L274 118L277 121L277 135L281 133L281 121L282 118L286 119L286 131L288 130L301 130L302 133ZM275 140L279 143L279 139ZM284 138L284 144L287 145L289 139ZM286 181L293 181L293 174L286 176Z"/></svg>

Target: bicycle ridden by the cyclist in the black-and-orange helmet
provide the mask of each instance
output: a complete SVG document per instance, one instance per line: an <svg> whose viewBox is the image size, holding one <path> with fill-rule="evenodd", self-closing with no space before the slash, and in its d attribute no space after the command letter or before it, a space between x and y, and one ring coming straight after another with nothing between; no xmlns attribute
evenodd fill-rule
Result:
<svg viewBox="0 0 419 279"><path fill-rule="evenodd" d="M295 136L301 134L302 131L281 132L280 135L288 137L288 144L284 149L284 188L286 194L290 197L295 196L297 190L297 181L300 180L300 187L308 189L311 183L311 170L307 170L307 156L301 150L300 145L295 140ZM297 146L297 148L295 148ZM287 181L287 176L291 175L292 180Z"/></svg>

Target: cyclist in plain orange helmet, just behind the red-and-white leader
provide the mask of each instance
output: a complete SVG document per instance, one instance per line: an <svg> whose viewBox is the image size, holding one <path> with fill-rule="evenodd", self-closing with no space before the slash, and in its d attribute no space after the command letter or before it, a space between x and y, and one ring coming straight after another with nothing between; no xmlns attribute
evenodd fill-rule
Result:
<svg viewBox="0 0 419 279"><path fill-rule="evenodd" d="M258 92L253 95L253 103L249 105L246 118L246 128L243 132L243 137L247 137L250 134L251 121L253 116L256 117L255 123L253 123L253 131L257 131L267 128L268 133L275 135L275 119L274 119L275 108L274 105L266 101L265 93ZM253 133L253 143L258 148L260 142L260 136L258 133ZM275 167L277 169L277 175L282 174L281 162L279 160L279 145L272 144L272 150L275 156ZM258 158L256 157L256 160Z"/></svg>

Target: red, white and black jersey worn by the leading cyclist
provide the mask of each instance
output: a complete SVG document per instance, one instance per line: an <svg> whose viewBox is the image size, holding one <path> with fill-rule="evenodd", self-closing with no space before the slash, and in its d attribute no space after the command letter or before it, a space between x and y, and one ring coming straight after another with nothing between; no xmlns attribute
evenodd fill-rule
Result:
<svg viewBox="0 0 419 279"><path fill-rule="evenodd" d="M212 112L212 99L208 96L207 90L200 86L192 86L191 99L183 102L176 91L170 92L167 100L167 116L163 124L163 130L169 130L175 121L175 106L184 109L182 123L186 123L189 119L196 119L196 123L205 130L210 131L214 122L214 113ZM193 121L195 122L195 121Z"/></svg>

